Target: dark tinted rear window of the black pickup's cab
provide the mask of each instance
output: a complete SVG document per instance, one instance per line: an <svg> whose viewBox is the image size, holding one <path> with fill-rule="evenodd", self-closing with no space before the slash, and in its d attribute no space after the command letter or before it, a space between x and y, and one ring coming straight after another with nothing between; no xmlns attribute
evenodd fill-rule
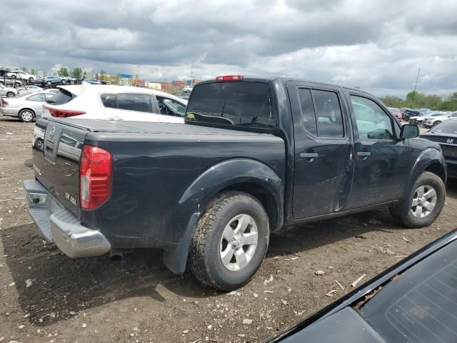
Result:
<svg viewBox="0 0 457 343"><path fill-rule="evenodd" d="M276 111L270 85L243 81L200 84L189 99L186 121L273 129Z"/></svg>

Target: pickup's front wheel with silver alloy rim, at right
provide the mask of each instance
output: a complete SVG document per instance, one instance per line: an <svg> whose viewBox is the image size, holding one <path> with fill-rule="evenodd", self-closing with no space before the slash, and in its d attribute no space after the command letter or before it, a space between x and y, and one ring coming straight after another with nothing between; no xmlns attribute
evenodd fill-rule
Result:
<svg viewBox="0 0 457 343"><path fill-rule="evenodd" d="M433 190L435 192L434 197ZM423 194L422 197L420 194ZM427 197L427 194L430 197ZM390 209L393 219L411 229L428 227L428 225L431 225L435 221L443 209L446 198L446 187L438 175L423 172L414 183L412 196L412 203L408 214L396 214L395 208Z"/></svg>

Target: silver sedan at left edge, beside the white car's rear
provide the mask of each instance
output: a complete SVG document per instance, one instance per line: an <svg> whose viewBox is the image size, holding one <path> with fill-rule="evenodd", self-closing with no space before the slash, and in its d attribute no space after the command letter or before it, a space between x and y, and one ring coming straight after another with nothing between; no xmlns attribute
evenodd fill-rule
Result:
<svg viewBox="0 0 457 343"><path fill-rule="evenodd" d="M4 116L17 116L21 121L29 123L43 114L43 104L54 94L37 91L15 98L0 100L0 113Z"/></svg>

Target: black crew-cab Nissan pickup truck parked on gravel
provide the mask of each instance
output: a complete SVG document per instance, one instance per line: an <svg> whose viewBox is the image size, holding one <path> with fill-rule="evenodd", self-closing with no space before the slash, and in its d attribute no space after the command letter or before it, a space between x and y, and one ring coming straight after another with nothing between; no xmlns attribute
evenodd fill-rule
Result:
<svg viewBox="0 0 457 343"><path fill-rule="evenodd" d="M443 208L440 146L359 89L218 76L186 124L39 119L30 214L69 257L159 248L171 271L246 284L273 230L388 207L407 227Z"/></svg>

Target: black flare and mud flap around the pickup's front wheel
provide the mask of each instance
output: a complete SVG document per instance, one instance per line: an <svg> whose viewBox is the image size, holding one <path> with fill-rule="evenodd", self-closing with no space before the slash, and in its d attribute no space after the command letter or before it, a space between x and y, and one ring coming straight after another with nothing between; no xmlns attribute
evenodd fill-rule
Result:
<svg viewBox="0 0 457 343"><path fill-rule="evenodd" d="M432 164L440 164L443 174L445 175L445 179L443 180L446 182L446 161L444 161L443 154L441 151L438 151L435 148L427 148L421 151L415 161L413 161L413 166L411 167L411 172L408 176L408 182L406 183L406 187L404 189L403 196L401 197L402 202L398 206L396 206L396 213L397 214L406 214L410 209L410 204L413 198L413 187L416 183L418 177Z"/></svg>

